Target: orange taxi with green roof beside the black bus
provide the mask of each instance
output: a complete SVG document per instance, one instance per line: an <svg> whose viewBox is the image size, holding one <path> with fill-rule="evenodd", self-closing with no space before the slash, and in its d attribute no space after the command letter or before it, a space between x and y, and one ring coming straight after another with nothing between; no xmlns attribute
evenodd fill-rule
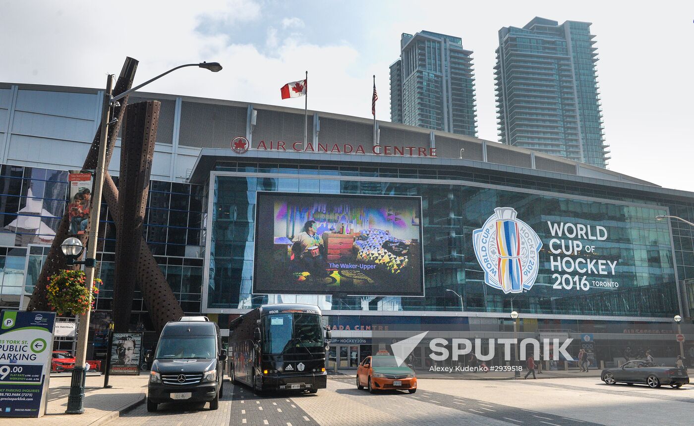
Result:
<svg viewBox="0 0 694 426"><path fill-rule="evenodd" d="M417 377L406 364L398 366L393 355L366 357L357 368L357 389L369 392L381 389L401 389L409 393L417 391Z"/></svg>

